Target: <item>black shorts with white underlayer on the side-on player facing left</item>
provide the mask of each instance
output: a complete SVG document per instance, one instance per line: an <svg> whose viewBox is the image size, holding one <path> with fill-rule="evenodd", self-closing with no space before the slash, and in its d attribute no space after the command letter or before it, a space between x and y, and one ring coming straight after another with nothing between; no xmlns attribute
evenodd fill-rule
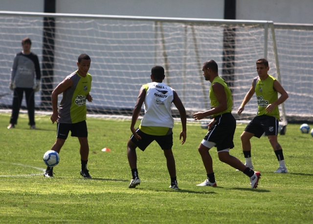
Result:
<svg viewBox="0 0 313 224"><path fill-rule="evenodd" d="M214 142L217 151L234 148L236 119L231 113L215 117L215 122L204 136L203 140Z"/></svg>

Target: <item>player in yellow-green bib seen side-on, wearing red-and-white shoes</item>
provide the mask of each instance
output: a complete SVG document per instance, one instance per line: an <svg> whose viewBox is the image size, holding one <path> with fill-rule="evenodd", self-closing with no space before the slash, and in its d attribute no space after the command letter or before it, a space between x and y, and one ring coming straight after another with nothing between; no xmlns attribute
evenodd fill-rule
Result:
<svg viewBox="0 0 313 224"><path fill-rule="evenodd" d="M201 120L212 116L213 121L208 124L209 130L198 148L207 179L197 186L217 186L213 172L213 161L209 152L215 146L220 161L246 174L250 178L251 188L257 188L261 173L254 172L238 158L229 154L229 150L234 148L233 138L236 130L236 120L231 114L233 100L230 89L224 79L219 76L218 65L214 60L205 62L202 66L202 71L205 80L211 82L209 92L211 109L195 113L194 119Z"/></svg>

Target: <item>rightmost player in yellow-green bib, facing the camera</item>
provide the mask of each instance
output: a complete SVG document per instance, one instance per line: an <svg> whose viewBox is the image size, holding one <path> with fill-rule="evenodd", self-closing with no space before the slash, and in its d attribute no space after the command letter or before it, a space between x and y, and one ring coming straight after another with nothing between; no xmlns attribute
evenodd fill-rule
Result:
<svg viewBox="0 0 313 224"><path fill-rule="evenodd" d="M258 114L242 133L241 144L246 165L253 169L250 139L253 136L260 138L265 132L279 162L279 167L274 173L285 174L288 173L288 170L285 165L283 149L277 141L279 123L278 105L288 99L288 93L273 76L268 75L268 70L268 60L261 58L256 61L258 76L253 79L250 90L238 108L238 115L241 115L245 110L247 102L252 98L254 93L256 94ZM278 93L281 94L279 98Z"/></svg>

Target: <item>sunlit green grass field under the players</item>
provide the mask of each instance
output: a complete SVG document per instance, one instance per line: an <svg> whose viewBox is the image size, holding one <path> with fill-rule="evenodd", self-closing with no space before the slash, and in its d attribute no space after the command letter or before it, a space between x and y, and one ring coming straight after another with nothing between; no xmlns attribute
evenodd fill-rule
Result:
<svg viewBox="0 0 313 224"><path fill-rule="evenodd" d="M56 124L36 115L30 130L27 115L7 129L10 114L0 114L0 223L1 224L312 224L313 137L301 134L300 124L288 124L278 140L289 174L274 174L278 161L267 137L253 138L254 169L262 173L257 189L249 178L220 162L210 150L218 187L198 187L206 178L198 146L206 133L200 124L187 126L180 144L180 124L174 127L173 152L180 191L169 189L165 158L153 143L137 150L141 184L129 189L132 178L126 145L130 121L88 118L89 171L80 176L79 143L69 137L54 168L54 178L43 176L43 155L56 138ZM230 151L244 161L238 124ZM111 151L103 152L101 149Z"/></svg>

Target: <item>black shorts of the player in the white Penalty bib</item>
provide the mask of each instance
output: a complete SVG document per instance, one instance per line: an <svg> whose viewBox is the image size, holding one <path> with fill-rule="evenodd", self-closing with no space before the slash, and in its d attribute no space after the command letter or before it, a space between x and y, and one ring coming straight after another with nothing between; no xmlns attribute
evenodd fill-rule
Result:
<svg viewBox="0 0 313 224"><path fill-rule="evenodd" d="M131 140L142 151L144 151L155 140L163 150L169 150L173 147L173 132L168 135L149 135L137 128L136 133L141 137L141 139L137 141L134 135L132 135Z"/></svg>

